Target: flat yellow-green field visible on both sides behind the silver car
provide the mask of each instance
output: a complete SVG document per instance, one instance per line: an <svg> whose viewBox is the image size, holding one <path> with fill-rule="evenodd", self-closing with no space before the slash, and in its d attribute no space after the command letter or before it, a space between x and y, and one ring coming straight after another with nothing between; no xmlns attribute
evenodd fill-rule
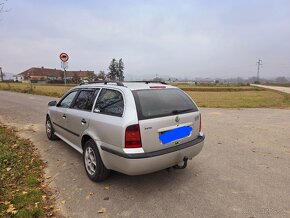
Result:
<svg viewBox="0 0 290 218"><path fill-rule="evenodd" d="M238 84L174 83L186 91L200 107L216 108L290 108L290 95L259 87ZM73 85L0 83L0 89L61 97Z"/></svg>

